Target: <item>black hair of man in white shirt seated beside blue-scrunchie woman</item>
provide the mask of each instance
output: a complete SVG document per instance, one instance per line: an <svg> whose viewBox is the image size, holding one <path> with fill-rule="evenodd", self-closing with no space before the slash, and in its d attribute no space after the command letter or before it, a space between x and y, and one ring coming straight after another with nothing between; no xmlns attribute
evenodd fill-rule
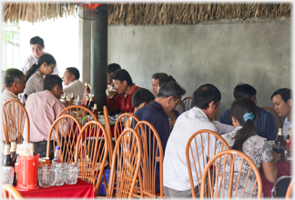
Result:
<svg viewBox="0 0 295 200"><path fill-rule="evenodd" d="M219 89L211 84L201 85L192 96L191 106L197 106L200 109L206 110L210 102L217 104L221 100Z"/></svg>

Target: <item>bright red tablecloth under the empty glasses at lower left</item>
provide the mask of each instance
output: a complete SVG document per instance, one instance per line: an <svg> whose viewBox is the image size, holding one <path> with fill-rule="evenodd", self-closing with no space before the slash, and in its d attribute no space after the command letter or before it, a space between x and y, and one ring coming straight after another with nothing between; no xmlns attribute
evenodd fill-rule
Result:
<svg viewBox="0 0 295 200"><path fill-rule="evenodd" d="M76 185L39 187L37 190L18 191L24 198L94 198L94 186L80 179Z"/></svg>

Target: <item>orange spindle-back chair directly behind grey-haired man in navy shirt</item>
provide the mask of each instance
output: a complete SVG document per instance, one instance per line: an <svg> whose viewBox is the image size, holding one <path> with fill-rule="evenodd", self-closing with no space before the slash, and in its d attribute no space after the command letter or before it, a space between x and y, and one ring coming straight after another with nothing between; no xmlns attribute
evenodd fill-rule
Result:
<svg viewBox="0 0 295 200"><path fill-rule="evenodd" d="M137 123L135 130L140 135L142 145L142 157L139 170L140 192L143 197L163 198L163 148L158 132L153 125L147 121ZM159 193L156 192L156 170L159 165Z"/></svg>

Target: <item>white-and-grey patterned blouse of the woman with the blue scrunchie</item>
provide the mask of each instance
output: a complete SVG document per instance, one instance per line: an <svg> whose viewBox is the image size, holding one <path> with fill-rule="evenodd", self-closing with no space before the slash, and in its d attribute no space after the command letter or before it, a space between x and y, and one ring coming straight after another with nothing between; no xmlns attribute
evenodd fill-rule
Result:
<svg viewBox="0 0 295 200"><path fill-rule="evenodd" d="M225 141L228 143L229 147L231 147L232 145L234 145L235 140L233 139L234 136L237 134L237 132L239 131L239 129L242 126L238 126L236 127L236 129L226 135L221 135ZM221 151L221 145L222 143L220 141L218 141L218 144L216 145L216 154L218 154ZM257 166L257 168L259 169L261 167L262 162L270 162L273 157L271 154L271 146L268 143L268 141L259 136L259 135L253 135L250 136L242 145L242 152L245 155L248 155L249 158L254 162L254 164ZM239 170L240 170L240 165L241 165L241 157L235 157L235 173L234 173L234 179L233 180L237 180L238 176L239 176ZM219 159L218 161L218 165L219 165ZM222 161L222 159L221 159ZM230 162L227 163L227 169L229 169L229 164ZM219 175L219 180L221 180L221 172L222 172L222 167L223 165L220 165L221 169L220 169L220 175ZM247 165L243 165L242 168L242 172L240 175L240 181L239 181L239 188L238 188L238 194L237 197L241 198L242 194L243 194L243 190L244 190L244 186L246 185L246 181L247 181L247 176L248 176L248 170L249 168L247 167ZM225 183L229 183L229 174L230 171L226 170L224 178L225 178ZM250 172L249 175L249 180L247 183L247 187L245 190L245 195L244 198L249 198L249 195L251 194L251 190L253 188L253 185L256 181L256 176L254 174L253 171ZM220 183L219 183L220 184ZM221 185L222 188L223 185ZM229 196L228 192L229 192L229 188L227 188L229 185L225 185L225 189L224 189L224 196ZM214 186L215 188L215 186ZM232 187L232 191L235 192L237 188L237 182L233 181L233 187ZM221 197L222 193L220 193L220 197ZM255 188L255 191L253 192L252 197L255 198L257 196L257 186Z"/></svg>

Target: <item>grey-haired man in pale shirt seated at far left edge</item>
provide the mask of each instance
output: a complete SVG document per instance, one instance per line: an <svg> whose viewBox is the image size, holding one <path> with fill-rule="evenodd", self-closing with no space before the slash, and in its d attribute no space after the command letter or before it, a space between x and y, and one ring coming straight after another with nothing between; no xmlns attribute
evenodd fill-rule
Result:
<svg viewBox="0 0 295 200"><path fill-rule="evenodd" d="M18 69L15 68L11 68L11 69L7 69L5 71L4 74L4 80L3 80L3 84L5 85L5 90L4 92L1 94L1 108L0 110L2 110L3 105L5 105L5 102L15 99L16 101L19 102L19 99L17 98L17 95L20 93L24 92L24 87L25 87L25 77L24 77L24 73ZM15 114L13 115L18 115L17 112L17 107L15 106L15 108L13 107L11 109L12 112L15 111ZM20 127L21 125L17 122L15 122L15 118L13 118L12 116L8 116L8 121L7 122L7 126L9 127L9 133L19 133L17 130L21 130L22 127ZM16 117L17 118L17 117ZM12 129L12 127L14 127ZM3 138L5 139L5 138ZM8 139L8 138L7 138ZM10 138L10 141L15 140L15 138Z"/></svg>

